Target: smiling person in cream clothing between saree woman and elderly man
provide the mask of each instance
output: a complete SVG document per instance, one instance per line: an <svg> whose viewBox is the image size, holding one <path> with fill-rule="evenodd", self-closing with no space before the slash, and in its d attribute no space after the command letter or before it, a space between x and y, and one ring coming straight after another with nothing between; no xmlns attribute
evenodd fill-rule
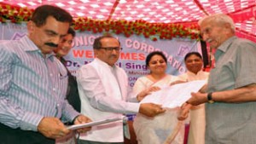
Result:
<svg viewBox="0 0 256 144"><path fill-rule="evenodd" d="M204 80L209 76L202 71L203 60L198 52L185 55L187 72L178 76L184 81ZM189 139L188 144L205 144L206 112L205 104L194 106L190 109Z"/></svg>

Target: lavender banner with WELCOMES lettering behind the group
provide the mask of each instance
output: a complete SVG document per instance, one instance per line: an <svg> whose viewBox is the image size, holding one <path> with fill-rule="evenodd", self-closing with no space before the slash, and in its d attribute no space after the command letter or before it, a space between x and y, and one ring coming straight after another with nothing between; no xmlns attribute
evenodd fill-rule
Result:
<svg viewBox="0 0 256 144"><path fill-rule="evenodd" d="M26 35L26 23L0 24L1 38L0 42L7 40L20 39ZM94 54L92 44L96 37L102 36L103 33L77 32L73 41L73 49L65 57L67 60L67 68L73 75L79 66L86 65L93 60ZM118 37L123 50L120 52L119 61L116 65L125 69L129 76L130 86L133 86L138 77L146 75L148 70L145 65L145 59L148 53L160 50L167 58L167 73L179 75L186 72L183 57L188 52L198 51L201 53L201 44L195 40L188 38L173 38L172 40L152 41L143 36L132 35L125 37L124 35L113 35Z"/></svg>

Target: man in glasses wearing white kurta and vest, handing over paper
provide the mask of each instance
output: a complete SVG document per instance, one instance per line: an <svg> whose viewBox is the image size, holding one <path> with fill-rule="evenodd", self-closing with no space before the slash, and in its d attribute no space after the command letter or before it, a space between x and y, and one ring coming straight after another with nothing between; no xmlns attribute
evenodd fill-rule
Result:
<svg viewBox="0 0 256 144"><path fill-rule="evenodd" d="M129 95L128 77L122 68L115 66L122 49L118 39L112 36L98 37L93 49L96 59L81 66L77 75L82 113L95 121L122 116L123 113L140 112L154 117L165 112L159 105L139 104L136 95ZM92 127L79 138L79 144L123 143L123 123Z"/></svg>

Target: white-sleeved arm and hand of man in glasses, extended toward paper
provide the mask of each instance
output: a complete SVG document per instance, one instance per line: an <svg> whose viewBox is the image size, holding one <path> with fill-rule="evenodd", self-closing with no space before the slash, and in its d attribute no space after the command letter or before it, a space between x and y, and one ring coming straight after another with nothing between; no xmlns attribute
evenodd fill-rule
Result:
<svg viewBox="0 0 256 144"><path fill-rule="evenodd" d="M103 112L119 112L119 113L137 113L142 112L148 116L154 116L161 112L165 112L160 106L154 104L143 104L126 102L118 99L109 98L102 84L101 78L98 76L93 66L82 66L77 76L79 90L90 100L90 105ZM83 105L83 104L82 104Z"/></svg>

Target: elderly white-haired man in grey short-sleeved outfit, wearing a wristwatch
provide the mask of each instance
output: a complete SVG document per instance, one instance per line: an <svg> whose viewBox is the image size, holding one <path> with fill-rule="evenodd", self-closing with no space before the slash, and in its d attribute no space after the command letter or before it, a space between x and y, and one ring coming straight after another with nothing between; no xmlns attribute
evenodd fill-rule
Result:
<svg viewBox="0 0 256 144"><path fill-rule="evenodd" d="M253 144L256 141L256 44L235 36L230 16L201 20L201 36L216 49L207 93L192 93L192 105L206 104L207 144Z"/></svg>

